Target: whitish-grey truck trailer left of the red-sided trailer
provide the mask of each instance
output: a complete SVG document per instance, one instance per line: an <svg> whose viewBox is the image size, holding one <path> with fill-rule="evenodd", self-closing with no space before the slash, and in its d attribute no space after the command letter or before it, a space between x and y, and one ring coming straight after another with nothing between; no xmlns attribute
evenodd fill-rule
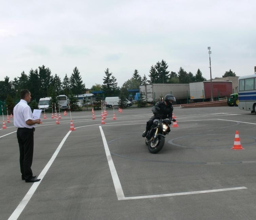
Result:
<svg viewBox="0 0 256 220"><path fill-rule="evenodd" d="M140 85L140 93L144 95L146 102L154 103L164 98L166 94L172 94L176 100L185 100L190 97L189 84L146 84Z"/></svg>

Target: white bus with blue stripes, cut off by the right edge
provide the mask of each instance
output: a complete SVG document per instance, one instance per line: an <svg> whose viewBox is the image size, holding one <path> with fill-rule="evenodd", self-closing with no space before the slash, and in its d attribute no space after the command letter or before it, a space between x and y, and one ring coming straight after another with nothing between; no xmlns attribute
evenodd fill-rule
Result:
<svg viewBox="0 0 256 220"><path fill-rule="evenodd" d="M238 78L238 107L256 114L256 72Z"/></svg>

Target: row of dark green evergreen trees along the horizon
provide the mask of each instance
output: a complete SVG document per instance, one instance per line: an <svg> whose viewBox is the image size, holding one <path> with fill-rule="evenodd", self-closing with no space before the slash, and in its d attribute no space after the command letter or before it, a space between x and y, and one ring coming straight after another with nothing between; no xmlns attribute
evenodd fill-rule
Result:
<svg viewBox="0 0 256 220"><path fill-rule="evenodd" d="M225 76L236 75L230 69L230 71L225 72L223 77ZM4 77L4 80L0 81L0 100L14 99L17 101L19 100L20 90L25 88L31 91L32 100L38 101L43 97L56 97L60 94L78 97L79 94L84 94L87 90L89 92L103 91L104 97L120 95L127 97L127 89L138 89L139 85L142 84L190 83L206 80L199 68L195 76L192 72L186 72L182 67L179 68L178 73L170 72L168 71L168 64L164 60L152 65L147 77L145 74L141 77L139 71L135 69L131 78L125 81L122 87L119 87L113 73L110 72L109 68L106 68L102 79L103 83L96 83L90 89L86 89L77 67L73 69L70 77L66 74L61 80L57 74L52 74L49 67L46 68L42 65L36 69L31 69L28 74L25 74L24 71L21 72L20 76L15 77L12 81L8 76Z"/></svg>

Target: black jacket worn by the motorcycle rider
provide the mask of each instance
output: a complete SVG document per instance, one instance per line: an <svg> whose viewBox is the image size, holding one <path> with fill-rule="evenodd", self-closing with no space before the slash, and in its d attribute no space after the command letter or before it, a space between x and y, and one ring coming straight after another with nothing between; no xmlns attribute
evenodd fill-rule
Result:
<svg viewBox="0 0 256 220"><path fill-rule="evenodd" d="M159 119L168 118L169 120L172 120L173 118L173 106L166 106L164 101L158 101L156 105L151 108L151 110Z"/></svg>

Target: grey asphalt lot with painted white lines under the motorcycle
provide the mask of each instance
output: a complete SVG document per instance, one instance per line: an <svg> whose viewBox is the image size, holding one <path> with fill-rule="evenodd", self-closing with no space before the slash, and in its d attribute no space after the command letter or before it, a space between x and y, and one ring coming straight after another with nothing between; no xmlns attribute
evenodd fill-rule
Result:
<svg viewBox="0 0 256 220"><path fill-rule="evenodd" d="M141 137L150 108L115 109L117 120L107 109L105 124L100 115L42 119L34 134L36 183L21 180L13 118L0 129L0 220L255 219L255 114L175 107L178 127L158 154ZM244 149L232 149L236 131Z"/></svg>

